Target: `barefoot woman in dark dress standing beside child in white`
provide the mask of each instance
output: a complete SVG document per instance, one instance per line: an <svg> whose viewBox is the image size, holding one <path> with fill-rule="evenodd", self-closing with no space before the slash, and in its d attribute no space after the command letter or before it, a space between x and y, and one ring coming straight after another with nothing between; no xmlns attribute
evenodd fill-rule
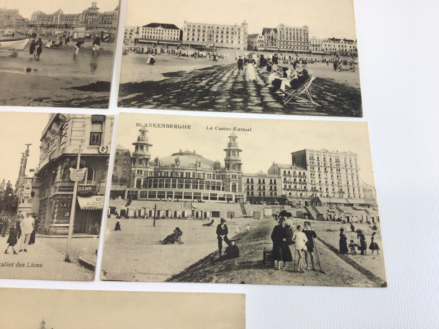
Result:
<svg viewBox="0 0 439 329"><path fill-rule="evenodd" d="M274 269L278 270L281 268L281 261L284 262L283 268L285 268L287 261L293 261L291 250L288 246L288 242L291 241L291 230L285 226L285 218L281 217L279 225L274 226L271 240L273 241Z"/></svg>

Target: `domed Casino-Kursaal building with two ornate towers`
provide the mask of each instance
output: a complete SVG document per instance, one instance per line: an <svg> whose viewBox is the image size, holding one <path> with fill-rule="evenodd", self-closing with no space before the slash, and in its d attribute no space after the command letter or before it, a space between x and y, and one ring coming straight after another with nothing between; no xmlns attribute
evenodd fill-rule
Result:
<svg viewBox="0 0 439 329"><path fill-rule="evenodd" d="M237 136L232 132L224 149L224 165L196 151L179 150L169 157L151 161L148 131L139 129L131 155L130 200L175 200L244 203L242 161ZM119 150L116 150L119 151ZM112 183L112 190L117 185ZM112 191L112 193L114 193Z"/></svg>

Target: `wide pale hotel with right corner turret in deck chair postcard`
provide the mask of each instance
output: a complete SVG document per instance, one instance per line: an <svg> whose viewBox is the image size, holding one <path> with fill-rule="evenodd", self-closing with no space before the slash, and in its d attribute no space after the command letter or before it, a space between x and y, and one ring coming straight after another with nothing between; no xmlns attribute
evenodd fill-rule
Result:
<svg viewBox="0 0 439 329"><path fill-rule="evenodd" d="M183 43L194 46L247 49L248 23L221 25L184 21Z"/></svg>

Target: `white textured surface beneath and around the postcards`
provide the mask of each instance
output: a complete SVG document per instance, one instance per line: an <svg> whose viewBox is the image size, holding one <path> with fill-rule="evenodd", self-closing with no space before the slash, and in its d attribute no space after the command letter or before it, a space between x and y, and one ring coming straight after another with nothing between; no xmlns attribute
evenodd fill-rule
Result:
<svg viewBox="0 0 439 329"><path fill-rule="evenodd" d="M122 0L121 5L121 31L126 1ZM213 1L212 6L214 4ZM275 4L273 1L273 10L276 10ZM0 286L246 293L248 328L439 328L439 3L436 0L355 0L354 4L363 118L165 112L369 122L388 288L100 282L102 240L94 282L0 280ZM145 1L145 8L147 6ZM300 8L297 14L300 15ZM119 112L117 84L122 38L120 34L108 110L113 114ZM35 107L0 107L0 110L102 112ZM120 111L161 113L158 110Z"/></svg>

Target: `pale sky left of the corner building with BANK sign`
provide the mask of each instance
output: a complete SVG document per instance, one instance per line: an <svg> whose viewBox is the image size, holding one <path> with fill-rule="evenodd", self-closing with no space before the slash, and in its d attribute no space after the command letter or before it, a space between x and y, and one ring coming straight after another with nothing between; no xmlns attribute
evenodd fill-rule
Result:
<svg viewBox="0 0 439 329"><path fill-rule="evenodd" d="M48 120L48 113L0 112L0 181L10 180L15 187L25 144L32 143L26 174L29 175L29 169L36 168L40 159L41 133Z"/></svg>

